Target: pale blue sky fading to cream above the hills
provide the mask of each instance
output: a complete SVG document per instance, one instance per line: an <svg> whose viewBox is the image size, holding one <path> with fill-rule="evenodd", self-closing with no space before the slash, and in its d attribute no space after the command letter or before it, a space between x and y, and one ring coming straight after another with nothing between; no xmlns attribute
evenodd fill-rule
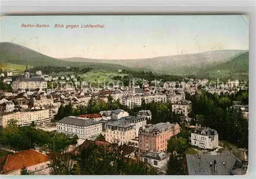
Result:
<svg viewBox="0 0 256 179"><path fill-rule="evenodd" d="M51 28L21 28L21 24ZM104 29L55 29L54 24L104 24ZM241 15L4 16L1 41L55 57L134 59L249 49L249 19Z"/></svg>

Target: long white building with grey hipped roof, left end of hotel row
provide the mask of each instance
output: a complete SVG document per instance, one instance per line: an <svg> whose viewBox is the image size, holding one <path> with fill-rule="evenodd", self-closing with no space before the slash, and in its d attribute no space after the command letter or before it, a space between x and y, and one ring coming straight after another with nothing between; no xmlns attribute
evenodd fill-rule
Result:
<svg viewBox="0 0 256 179"><path fill-rule="evenodd" d="M102 123L89 118L69 116L57 123L57 132L70 137L75 134L79 139L90 139L102 133Z"/></svg>

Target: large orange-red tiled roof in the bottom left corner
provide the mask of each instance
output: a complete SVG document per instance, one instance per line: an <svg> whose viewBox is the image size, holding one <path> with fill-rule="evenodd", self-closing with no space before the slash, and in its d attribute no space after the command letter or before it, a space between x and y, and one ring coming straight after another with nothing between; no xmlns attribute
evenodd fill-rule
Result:
<svg viewBox="0 0 256 179"><path fill-rule="evenodd" d="M8 155L2 173L19 170L23 165L29 167L49 160L50 158L47 155L41 154L36 150L23 150L15 154Z"/></svg>

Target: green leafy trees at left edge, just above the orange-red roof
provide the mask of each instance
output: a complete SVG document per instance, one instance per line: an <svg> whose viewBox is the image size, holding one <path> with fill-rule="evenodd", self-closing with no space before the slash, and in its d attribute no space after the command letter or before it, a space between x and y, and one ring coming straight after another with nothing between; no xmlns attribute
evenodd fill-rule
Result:
<svg viewBox="0 0 256 179"><path fill-rule="evenodd" d="M63 133L52 133L36 129L35 124L18 126L11 119L6 127L0 129L0 144L15 151L40 148L42 151L62 152L67 146L76 145L78 137L73 138Z"/></svg>

